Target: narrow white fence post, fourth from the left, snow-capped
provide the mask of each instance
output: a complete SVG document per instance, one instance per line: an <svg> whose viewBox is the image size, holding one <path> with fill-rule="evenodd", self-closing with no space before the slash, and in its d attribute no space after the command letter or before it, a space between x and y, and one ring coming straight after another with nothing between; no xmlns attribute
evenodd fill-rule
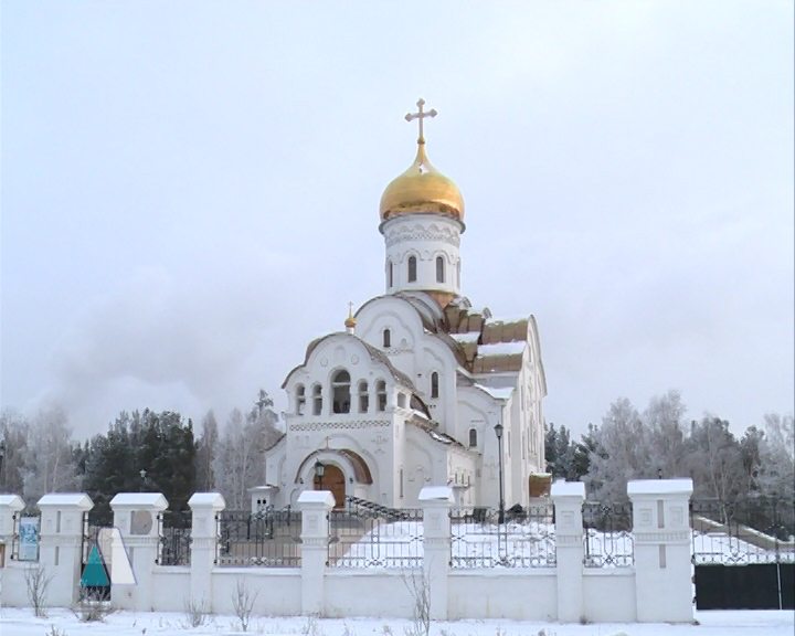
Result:
<svg viewBox="0 0 795 636"><path fill-rule="evenodd" d="M214 612L212 572L218 551L218 523L215 516L226 508L220 492L195 492L188 501L191 523L191 589L194 606Z"/></svg>

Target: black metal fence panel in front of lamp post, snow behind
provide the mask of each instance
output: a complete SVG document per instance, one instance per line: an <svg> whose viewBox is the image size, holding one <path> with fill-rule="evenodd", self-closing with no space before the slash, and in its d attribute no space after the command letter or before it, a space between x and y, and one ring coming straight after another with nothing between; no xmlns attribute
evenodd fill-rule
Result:
<svg viewBox="0 0 795 636"><path fill-rule="evenodd" d="M554 568L555 541L552 505L451 510L451 566Z"/></svg>

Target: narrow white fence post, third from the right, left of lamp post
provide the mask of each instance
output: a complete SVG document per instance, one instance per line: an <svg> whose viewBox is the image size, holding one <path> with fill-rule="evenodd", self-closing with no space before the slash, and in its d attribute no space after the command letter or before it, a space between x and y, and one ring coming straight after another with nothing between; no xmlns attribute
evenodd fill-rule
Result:
<svg viewBox="0 0 795 636"><path fill-rule="evenodd" d="M449 511L453 489L430 486L420 491L423 509L423 586L426 586L431 618L447 619L447 574L451 562ZM417 592L417 590L415 590Z"/></svg>

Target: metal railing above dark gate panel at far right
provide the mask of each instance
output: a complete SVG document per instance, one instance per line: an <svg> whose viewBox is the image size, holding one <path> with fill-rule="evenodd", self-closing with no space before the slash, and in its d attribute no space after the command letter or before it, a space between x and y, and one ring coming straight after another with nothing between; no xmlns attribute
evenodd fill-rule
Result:
<svg viewBox="0 0 795 636"><path fill-rule="evenodd" d="M795 563L793 501L749 498L690 502L693 563Z"/></svg>

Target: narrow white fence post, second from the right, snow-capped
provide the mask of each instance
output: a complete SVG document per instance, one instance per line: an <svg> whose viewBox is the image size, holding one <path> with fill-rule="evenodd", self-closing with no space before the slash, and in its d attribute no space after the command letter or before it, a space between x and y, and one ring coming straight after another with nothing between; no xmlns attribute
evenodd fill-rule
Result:
<svg viewBox="0 0 795 636"><path fill-rule="evenodd" d="M583 605L583 523L582 505L585 485L581 481L552 484L555 508L555 545L558 561L558 621L579 622Z"/></svg>

